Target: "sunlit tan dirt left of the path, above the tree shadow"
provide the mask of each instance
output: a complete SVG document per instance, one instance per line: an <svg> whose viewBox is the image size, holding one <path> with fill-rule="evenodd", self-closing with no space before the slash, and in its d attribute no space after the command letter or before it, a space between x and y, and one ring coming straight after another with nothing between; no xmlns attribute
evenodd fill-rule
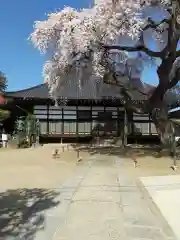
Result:
<svg viewBox="0 0 180 240"><path fill-rule="evenodd" d="M70 177L77 165L77 153L65 151L53 159L58 145L36 149L0 149L0 189L58 188ZM83 158L89 153L80 152Z"/></svg>

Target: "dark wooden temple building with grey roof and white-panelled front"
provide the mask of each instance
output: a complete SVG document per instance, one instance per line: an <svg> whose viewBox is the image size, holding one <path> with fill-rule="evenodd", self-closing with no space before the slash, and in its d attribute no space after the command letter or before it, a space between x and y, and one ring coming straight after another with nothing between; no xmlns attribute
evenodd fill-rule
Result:
<svg viewBox="0 0 180 240"><path fill-rule="evenodd" d="M118 87L103 84L94 97L91 86L84 87L83 91L72 85L65 86L59 106L55 106L50 98L47 84L6 92L6 109L11 111L11 116L4 122L4 127L8 133L12 133L15 121L31 113L40 122L40 137L47 141L52 138L59 141L61 138L121 137L126 115L129 139L156 137L156 128L150 116L126 112L119 92ZM62 99L66 99L65 104L62 104ZM134 91L132 96L132 102L136 101L145 101L139 91Z"/></svg>

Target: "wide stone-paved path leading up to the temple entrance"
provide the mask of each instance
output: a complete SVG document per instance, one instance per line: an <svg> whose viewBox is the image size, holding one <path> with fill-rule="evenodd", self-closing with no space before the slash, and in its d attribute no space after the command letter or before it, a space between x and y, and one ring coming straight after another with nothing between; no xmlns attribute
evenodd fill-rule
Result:
<svg viewBox="0 0 180 240"><path fill-rule="evenodd" d="M107 161L96 155L82 161L58 191L60 204L45 212L44 229L35 240L176 239L141 182L128 175L118 157Z"/></svg>

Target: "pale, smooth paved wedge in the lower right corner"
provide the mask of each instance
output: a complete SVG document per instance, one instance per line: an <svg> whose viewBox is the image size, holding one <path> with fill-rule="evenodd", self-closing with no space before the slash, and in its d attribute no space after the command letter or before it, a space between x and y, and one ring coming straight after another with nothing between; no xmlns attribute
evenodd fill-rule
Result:
<svg viewBox="0 0 180 240"><path fill-rule="evenodd" d="M143 177L141 181L180 239L180 175Z"/></svg>

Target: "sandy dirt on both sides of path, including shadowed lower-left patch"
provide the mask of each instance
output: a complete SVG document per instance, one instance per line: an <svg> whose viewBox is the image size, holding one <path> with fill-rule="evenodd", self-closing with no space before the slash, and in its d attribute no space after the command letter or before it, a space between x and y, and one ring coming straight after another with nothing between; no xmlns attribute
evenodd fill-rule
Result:
<svg viewBox="0 0 180 240"><path fill-rule="evenodd" d="M173 171L170 168L172 159L156 156L157 152L153 152L153 149L86 147L80 151L83 160L77 163L77 152L72 150L62 152L60 158L53 159L52 152L57 147L60 145L49 144L35 149L0 149L0 239L14 239L14 236L20 236L24 231L29 231L31 239L34 239L41 223L34 226L30 219L60 204L56 199L59 196L58 188L71 178L89 156L98 154L95 164L101 170L112 167L113 161L117 159L115 156L120 157L125 160L122 161L123 167L134 177L180 174L180 161L177 161L177 171ZM137 159L136 168L134 159ZM121 171L121 165L117 166L117 171Z"/></svg>

